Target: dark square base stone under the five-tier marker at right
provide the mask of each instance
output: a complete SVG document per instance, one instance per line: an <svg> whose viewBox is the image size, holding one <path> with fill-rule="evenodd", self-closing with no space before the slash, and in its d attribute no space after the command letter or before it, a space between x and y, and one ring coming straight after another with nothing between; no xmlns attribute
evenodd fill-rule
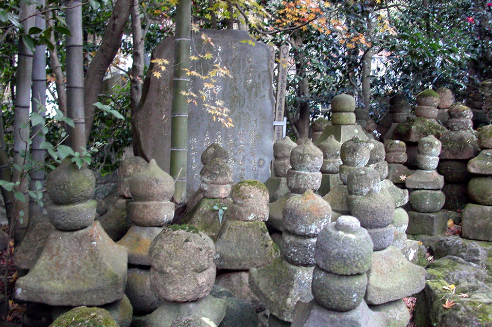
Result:
<svg viewBox="0 0 492 327"><path fill-rule="evenodd" d="M408 211L407 234L443 235L448 228L448 219L448 215L442 210L437 213Z"/></svg>

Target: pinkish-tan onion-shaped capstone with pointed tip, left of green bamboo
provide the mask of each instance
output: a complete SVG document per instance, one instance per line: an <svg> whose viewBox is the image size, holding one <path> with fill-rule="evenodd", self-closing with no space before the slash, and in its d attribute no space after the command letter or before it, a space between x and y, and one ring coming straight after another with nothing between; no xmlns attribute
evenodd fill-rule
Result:
<svg viewBox="0 0 492 327"><path fill-rule="evenodd" d="M133 175L129 184L136 201L169 201L174 194L174 180L154 159L144 170Z"/></svg>

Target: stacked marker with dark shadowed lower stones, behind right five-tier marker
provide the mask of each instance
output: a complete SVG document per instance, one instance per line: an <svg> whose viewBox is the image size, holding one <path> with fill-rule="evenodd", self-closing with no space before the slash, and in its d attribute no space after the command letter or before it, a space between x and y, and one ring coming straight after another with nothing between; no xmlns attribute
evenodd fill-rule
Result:
<svg viewBox="0 0 492 327"><path fill-rule="evenodd" d="M456 103L449 110L446 126L450 129L440 138L442 150L437 171L444 176L443 192L446 195L445 209L461 210L469 202L466 184L470 175L466 168L468 160L480 152L478 139L473 131L473 113L467 106Z"/></svg>

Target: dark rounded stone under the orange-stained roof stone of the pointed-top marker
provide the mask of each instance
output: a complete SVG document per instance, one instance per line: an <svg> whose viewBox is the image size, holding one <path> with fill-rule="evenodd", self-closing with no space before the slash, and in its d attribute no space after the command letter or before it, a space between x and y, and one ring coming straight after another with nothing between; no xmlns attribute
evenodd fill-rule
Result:
<svg viewBox="0 0 492 327"><path fill-rule="evenodd" d="M147 269L128 269L125 294L135 313L151 313L162 303L150 287L150 271Z"/></svg>

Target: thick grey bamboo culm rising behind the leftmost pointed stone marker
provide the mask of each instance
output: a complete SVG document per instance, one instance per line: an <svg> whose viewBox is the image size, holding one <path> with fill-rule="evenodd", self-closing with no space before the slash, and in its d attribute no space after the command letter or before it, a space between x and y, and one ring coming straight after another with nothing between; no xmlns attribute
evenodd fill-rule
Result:
<svg viewBox="0 0 492 327"><path fill-rule="evenodd" d="M72 35L66 36L67 116L75 128L67 127L68 141L74 151L85 150L84 56L82 44L82 1L65 0L65 20Z"/></svg>

